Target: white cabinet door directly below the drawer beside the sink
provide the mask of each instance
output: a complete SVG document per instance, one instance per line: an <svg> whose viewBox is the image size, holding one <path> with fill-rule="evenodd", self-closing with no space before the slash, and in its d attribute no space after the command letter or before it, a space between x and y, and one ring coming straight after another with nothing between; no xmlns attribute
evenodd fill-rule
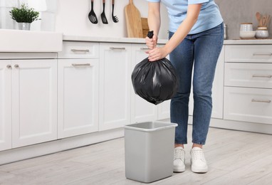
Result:
<svg viewBox="0 0 272 185"><path fill-rule="evenodd" d="M98 59L58 60L58 138L98 131Z"/></svg>

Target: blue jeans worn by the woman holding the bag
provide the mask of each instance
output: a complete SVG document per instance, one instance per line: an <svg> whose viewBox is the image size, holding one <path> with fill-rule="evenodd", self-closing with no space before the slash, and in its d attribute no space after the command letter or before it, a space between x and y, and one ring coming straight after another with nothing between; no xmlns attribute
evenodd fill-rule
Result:
<svg viewBox="0 0 272 185"><path fill-rule="evenodd" d="M169 32L169 38L174 33ZM211 120L211 88L216 63L224 41L224 25L188 35L170 53L170 61L179 76L179 90L171 100L171 122L177 123L176 144L187 144L189 95L193 75L194 112L192 142L205 144Z"/></svg>

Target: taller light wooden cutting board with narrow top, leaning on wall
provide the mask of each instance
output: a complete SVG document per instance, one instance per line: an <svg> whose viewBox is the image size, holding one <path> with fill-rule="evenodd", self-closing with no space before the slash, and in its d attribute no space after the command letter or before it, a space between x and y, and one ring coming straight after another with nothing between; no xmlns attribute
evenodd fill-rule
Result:
<svg viewBox="0 0 272 185"><path fill-rule="evenodd" d="M133 4L133 0L125 6L125 21L127 23L127 37L143 38L140 11Z"/></svg>

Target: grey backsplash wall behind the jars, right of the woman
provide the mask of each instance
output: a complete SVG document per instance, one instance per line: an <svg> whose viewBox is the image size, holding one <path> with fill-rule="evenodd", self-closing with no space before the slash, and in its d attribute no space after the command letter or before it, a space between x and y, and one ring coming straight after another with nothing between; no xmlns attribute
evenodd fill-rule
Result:
<svg viewBox="0 0 272 185"><path fill-rule="evenodd" d="M272 16L271 0L215 0L218 4L224 22L227 25L227 39L239 38L240 23L253 23L256 30L258 21L256 12ZM272 21L268 27L269 38L272 38Z"/></svg>

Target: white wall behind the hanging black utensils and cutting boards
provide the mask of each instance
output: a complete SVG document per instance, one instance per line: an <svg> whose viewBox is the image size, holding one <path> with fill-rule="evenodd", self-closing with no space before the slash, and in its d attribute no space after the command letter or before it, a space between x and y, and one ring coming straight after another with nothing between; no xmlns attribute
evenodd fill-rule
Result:
<svg viewBox="0 0 272 185"><path fill-rule="evenodd" d="M100 18L102 0L94 0L94 11L98 16L98 24L90 23L88 13L90 11L90 0L58 0L56 12L56 31L66 35L76 36L105 36L105 37L127 37L124 8L129 0L115 0L114 14L119 18L118 23L111 19L111 0L105 0L105 14L108 24L103 24ZM147 1L134 0L142 17L147 17ZM159 38L168 38L168 17L164 6L161 8L162 26Z"/></svg>

